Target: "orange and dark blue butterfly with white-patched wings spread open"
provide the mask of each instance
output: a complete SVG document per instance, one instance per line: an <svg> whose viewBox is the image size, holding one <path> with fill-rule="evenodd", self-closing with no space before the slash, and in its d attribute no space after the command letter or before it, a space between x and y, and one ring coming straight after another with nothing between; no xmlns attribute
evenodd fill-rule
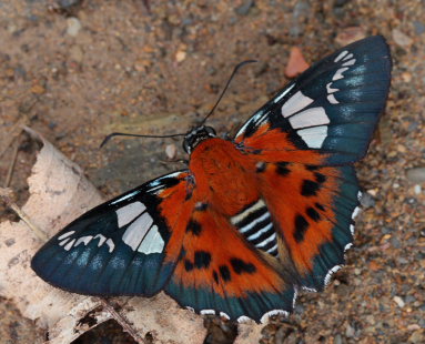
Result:
<svg viewBox="0 0 425 344"><path fill-rule="evenodd" d="M230 320L293 311L322 291L353 243L362 159L391 82L385 39L313 64L224 140L185 134L188 169L74 220L32 259L53 286L152 296Z"/></svg>

